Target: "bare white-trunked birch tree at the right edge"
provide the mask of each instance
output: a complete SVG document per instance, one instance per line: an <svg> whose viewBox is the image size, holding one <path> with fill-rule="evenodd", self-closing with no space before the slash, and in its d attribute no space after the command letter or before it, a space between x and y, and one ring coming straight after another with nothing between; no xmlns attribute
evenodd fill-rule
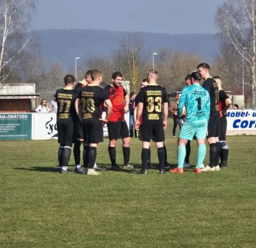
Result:
<svg viewBox="0 0 256 248"><path fill-rule="evenodd" d="M244 57L252 105L256 103L256 0L224 0L216 24L222 42L229 42ZM245 49L246 48L246 49Z"/></svg>

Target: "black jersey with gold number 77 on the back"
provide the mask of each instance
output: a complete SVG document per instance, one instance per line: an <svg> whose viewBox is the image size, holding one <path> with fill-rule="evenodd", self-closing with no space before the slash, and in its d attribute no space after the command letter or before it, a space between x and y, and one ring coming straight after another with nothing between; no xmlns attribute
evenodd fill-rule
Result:
<svg viewBox="0 0 256 248"><path fill-rule="evenodd" d="M58 89L56 91L58 122L68 123L77 120L75 110L75 100L77 96L78 94L73 89Z"/></svg>

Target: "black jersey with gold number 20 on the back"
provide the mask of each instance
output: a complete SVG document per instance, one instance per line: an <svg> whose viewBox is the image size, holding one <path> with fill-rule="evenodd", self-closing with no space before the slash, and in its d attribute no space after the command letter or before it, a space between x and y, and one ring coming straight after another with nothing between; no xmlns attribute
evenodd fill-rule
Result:
<svg viewBox="0 0 256 248"><path fill-rule="evenodd" d="M107 91L99 86L86 86L79 93L83 122L100 123L104 101L109 99Z"/></svg>

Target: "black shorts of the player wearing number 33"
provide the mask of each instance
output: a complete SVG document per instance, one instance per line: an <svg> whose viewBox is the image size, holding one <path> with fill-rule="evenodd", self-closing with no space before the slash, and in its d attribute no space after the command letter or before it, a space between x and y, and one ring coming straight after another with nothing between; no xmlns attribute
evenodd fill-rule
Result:
<svg viewBox="0 0 256 248"><path fill-rule="evenodd" d="M165 131L163 130L163 122L142 123L140 125L140 140L145 142L163 142L165 141Z"/></svg>

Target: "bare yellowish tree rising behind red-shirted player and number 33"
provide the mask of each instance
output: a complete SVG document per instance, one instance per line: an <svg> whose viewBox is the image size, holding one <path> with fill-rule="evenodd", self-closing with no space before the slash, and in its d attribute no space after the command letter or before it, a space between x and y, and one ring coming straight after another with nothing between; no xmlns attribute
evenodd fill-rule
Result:
<svg viewBox="0 0 256 248"><path fill-rule="evenodd" d="M149 69L144 41L136 34L129 33L119 40L119 49L112 53L112 57L114 68L123 74L125 80L130 81L131 90L137 93L140 81L145 78L145 72Z"/></svg>

